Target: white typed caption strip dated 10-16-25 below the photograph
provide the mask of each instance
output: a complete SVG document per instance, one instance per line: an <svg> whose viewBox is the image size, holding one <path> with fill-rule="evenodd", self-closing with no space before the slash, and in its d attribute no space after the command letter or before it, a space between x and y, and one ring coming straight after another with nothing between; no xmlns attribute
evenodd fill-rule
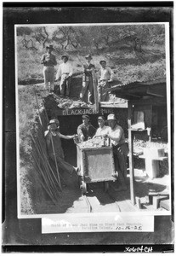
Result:
<svg viewBox="0 0 176 256"><path fill-rule="evenodd" d="M154 216L42 218L42 233L154 232Z"/></svg>

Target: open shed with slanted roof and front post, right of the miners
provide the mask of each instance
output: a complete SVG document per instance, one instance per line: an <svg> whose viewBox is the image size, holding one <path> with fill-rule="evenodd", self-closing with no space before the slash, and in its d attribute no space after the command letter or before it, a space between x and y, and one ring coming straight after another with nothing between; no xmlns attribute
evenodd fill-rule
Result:
<svg viewBox="0 0 176 256"><path fill-rule="evenodd" d="M167 108L166 79L117 85L111 88L110 91L116 97L128 100L130 196L134 205L133 137L140 133L142 137L148 137L151 140L152 109L155 106Z"/></svg>

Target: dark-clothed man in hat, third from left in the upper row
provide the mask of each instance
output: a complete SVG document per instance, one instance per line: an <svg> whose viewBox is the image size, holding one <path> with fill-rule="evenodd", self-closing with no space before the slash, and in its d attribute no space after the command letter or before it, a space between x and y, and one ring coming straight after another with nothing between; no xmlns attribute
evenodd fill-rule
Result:
<svg viewBox="0 0 176 256"><path fill-rule="evenodd" d="M94 64L91 63L92 56L87 55L85 56L87 63L83 65L83 74L82 74L82 91L80 93L80 100L82 100L83 96L88 97L88 104L93 104L93 92L94 92L94 85L93 85L93 76L92 70L95 68Z"/></svg>

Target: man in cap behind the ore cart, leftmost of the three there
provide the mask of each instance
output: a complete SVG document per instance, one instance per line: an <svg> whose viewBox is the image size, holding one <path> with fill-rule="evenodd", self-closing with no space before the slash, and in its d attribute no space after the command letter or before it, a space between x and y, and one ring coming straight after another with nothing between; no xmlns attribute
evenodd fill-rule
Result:
<svg viewBox="0 0 176 256"><path fill-rule="evenodd" d="M77 127L77 134L82 142L88 141L88 139L94 137L96 129L89 122L88 115L82 115L82 125Z"/></svg>

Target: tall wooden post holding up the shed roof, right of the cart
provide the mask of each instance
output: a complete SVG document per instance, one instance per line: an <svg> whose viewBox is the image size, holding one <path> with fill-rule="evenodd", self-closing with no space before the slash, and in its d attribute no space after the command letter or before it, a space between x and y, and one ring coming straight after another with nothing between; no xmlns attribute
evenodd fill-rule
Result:
<svg viewBox="0 0 176 256"><path fill-rule="evenodd" d="M128 147L129 147L129 174L130 174L130 197L133 205L135 205L135 195L133 189L134 173L133 173L133 133L132 125L132 103L128 101Z"/></svg>

